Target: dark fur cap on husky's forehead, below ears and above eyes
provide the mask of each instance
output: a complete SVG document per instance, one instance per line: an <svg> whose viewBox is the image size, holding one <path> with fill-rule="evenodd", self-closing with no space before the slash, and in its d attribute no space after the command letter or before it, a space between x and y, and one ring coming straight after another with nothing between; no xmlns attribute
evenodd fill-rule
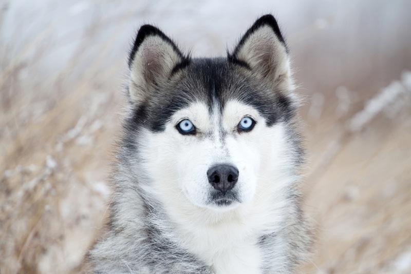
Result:
<svg viewBox="0 0 411 274"><path fill-rule="evenodd" d="M238 69L237 64L225 58L194 58L178 84L158 88L148 102L135 106L131 121L134 129L147 127L154 132L162 131L174 112L198 99L207 103L210 111L214 103L223 108L228 100L239 100L255 107L265 117L267 126L292 118L295 106L286 95L267 93L271 88L267 83L256 85L251 81L252 76L239 76ZM202 87L201 93L198 86Z"/></svg>

